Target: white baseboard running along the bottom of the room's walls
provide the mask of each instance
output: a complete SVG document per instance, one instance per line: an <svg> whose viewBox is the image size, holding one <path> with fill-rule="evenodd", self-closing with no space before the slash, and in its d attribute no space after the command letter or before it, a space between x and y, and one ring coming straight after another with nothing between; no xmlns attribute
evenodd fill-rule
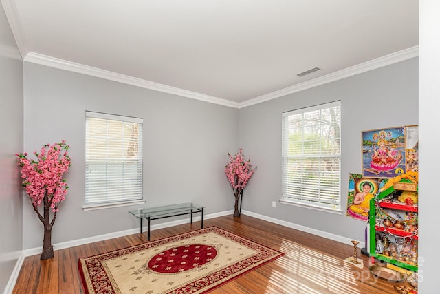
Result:
<svg viewBox="0 0 440 294"><path fill-rule="evenodd" d="M212 213L212 214L205 216L203 219L208 220L210 218L218 218L219 216L228 216L228 215L232 215L233 212L234 211L230 210L230 211L222 211L222 212L218 212L218 213ZM266 220L267 222L273 222L274 224L280 224L281 226L284 226L284 227L297 229L298 231L304 231L306 233L318 235L320 237L324 237L327 239L342 242L344 244L352 244L351 239L342 237L340 235L334 235L331 233L327 233L325 231L311 229L309 227L301 226L299 224L294 224L292 222L286 222L284 220L278 220L276 218L271 218L269 216L263 216L259 213L253 213L251 211L243 210L243 211L241 211L241 213L243 213L246 216L252 216L254 218L259 218L261 220ZM197 217L193 218L193 220L194 221L201 220L201 216L197 216ZM154 231L157 229L163 229L163 228L167 228L167 227L177 226L178 224L187 224L188 222L190 222L189 218L186 218L184 220L175 220L172 222L164 222L162 224L154 224L153 226L151 226L151 231ZM61 242L61 243L54 244L54 250L66 249L66 248L74 247L74 246L78 246L78 245L84 245L84 244L89 244L89 243L93 243L93 242L99 242L99 241L109 240L109 239L113 239L113 238L119 238L119 237L123 237L125 235L133 235L138 232L139 232L138 228L137 229L129 229L129 230L125 230L125 231L118 231L115 233L97 235L97 236L93 236L93 237L89 237L89 238ZM359 241L358 246L360 248L364 247L365 242ZM17 282L17 277L19 276L20 269L21 269L21 266L23 265L25 258L28 256L31 256L31 255L39 254L39 253L41 253L42 250L43 250L43 246L21 251L19 259L17 260L17 264L15 265L14 270L12 271L12 275L9 279L8 285L6 285L6 289L5 289L4 294L11 294L12 293L12 290L14 289L15 283Z"/></svg>

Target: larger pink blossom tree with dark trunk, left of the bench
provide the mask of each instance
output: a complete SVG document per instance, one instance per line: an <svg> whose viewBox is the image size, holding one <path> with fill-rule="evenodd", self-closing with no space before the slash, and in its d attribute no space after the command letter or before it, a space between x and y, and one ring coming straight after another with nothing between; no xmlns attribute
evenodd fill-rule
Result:
<svg viewBox="0 0 440 294"><path fill-rule="evenodd" d="M70 167L70 157L67 154L69 145L65 140L54 145L44 145L40 153L34 152L37 160L29 160L28 154L17 154L21 167L21 178L23 187L32 202L34 211L43 222L44 238L43 253L41 260L54 257L54 247L52 246L52 227L58 212L58 205L65 200L67 184L63 180ZM39 211L39 206L43 204L43 215ZM52 209L52 220L50 220L50 210Z"/></svg>

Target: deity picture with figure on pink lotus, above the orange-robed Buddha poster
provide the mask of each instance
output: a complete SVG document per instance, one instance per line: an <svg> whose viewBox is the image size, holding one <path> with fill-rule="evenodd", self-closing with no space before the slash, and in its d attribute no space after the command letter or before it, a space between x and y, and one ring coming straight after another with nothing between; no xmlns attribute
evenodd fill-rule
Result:
<svg viewBox="0 0 440 294"><path fill-rule="evenodd" d="M393 178L406 172L405 127L362 132L362 175Z"/></svg>

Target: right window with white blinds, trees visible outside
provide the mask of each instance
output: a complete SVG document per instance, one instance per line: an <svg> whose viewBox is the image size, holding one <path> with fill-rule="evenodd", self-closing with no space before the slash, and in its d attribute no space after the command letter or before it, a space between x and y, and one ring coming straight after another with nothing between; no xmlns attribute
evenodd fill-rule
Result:
<svg viewBox="0 0 440 294"><path fill-rule="evenodd" d="M281 202L341 211L340 101L283 113Z"/></svg>

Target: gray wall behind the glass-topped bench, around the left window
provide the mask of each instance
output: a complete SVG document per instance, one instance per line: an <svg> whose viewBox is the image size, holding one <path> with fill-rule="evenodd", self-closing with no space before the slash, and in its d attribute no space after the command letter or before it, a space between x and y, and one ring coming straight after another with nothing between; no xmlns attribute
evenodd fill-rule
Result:
<svg viewBox="0 0 440 294"><path fill-rule="evenodd" d="M71 146L69 192L59 207L53 244L139 227L127 212L137 207L83 211L86 110L144 118L149 206L196 202L206 205L206 214L232 209L224 166L228 152L238 148L238 109L27 62L24 81L25 151L63 139ZM23 220L23 249L42 246L42 224L28 199Z"/></svg>

